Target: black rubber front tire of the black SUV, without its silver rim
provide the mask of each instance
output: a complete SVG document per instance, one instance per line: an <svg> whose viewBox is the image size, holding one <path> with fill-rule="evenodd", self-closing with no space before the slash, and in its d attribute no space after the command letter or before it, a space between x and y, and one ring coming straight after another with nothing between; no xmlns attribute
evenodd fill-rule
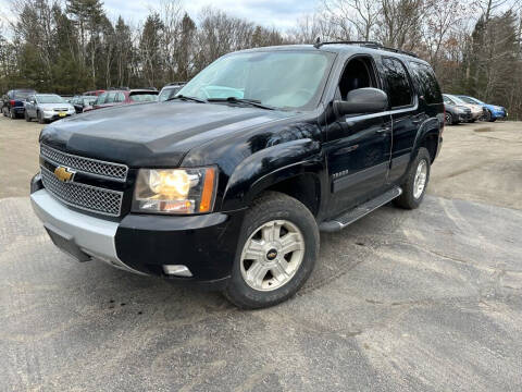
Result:
<svg viewBox="0 0 522 392"><path fill-rule="evenodd" d="M273 291L252 289L241 273L241 254L246 242L264 223L285 220L296 225L304 241L303 258L295 274ZM277 192L266 192L256 199L247 211L232 270L232 278L223 294L234 305L244 309L264 308L279 304L293 296L308 280L319 256L319 229L313 215L304 205Z"/></svg>

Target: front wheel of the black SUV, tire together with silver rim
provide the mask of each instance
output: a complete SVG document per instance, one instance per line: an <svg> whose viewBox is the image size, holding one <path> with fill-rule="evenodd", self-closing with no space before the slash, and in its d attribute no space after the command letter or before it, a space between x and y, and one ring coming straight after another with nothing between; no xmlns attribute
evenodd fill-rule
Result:
<svg viewBox="0 0 522 392"><path fill-rule="evenodd" d="M245 216L225 296L246 309L276 305L310 277L319 255L319 229L298 200L269 192Z"/></svg>

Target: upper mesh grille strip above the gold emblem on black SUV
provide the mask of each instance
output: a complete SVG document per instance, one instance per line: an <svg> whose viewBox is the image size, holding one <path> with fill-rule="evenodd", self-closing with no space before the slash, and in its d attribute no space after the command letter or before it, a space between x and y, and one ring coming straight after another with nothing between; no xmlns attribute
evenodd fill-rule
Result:
<svg viewBox="0 0 522 392"><path fill-rule="evenodd" d="M54 163L101 177L125 182L128 168L125 164L104 162L97 159L73 156L46 145L40 145L40 155Z"/></svg>

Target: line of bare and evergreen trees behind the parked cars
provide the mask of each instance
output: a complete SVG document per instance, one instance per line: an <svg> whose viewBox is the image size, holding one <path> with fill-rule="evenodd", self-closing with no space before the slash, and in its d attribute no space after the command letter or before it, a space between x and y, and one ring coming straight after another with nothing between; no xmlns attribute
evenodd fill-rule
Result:
<svg viewBox="0 0 522 392"><path fill-rule="evenodd" d="M446 93L506 106L522 118L520 0L318 0L282 30L223 10L189 15L161 0L138 24L111 21L101 0L12 0L0 30L0 88L75 94L188 81L235 50L371 40L427 60Z"/></svg>

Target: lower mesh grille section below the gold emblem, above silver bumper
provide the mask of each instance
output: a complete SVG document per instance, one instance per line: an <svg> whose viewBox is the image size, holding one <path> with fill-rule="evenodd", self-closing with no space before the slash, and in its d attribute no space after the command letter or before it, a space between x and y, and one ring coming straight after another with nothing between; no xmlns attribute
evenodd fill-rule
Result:
<svg viewBox="0 0 522 392"><path fill-rule="evenodd" d="M50 170L41 169L41 181L48 192L59 200L91 212L119 217L122 209L123 193L75 182L64 183Z"/></svg>

